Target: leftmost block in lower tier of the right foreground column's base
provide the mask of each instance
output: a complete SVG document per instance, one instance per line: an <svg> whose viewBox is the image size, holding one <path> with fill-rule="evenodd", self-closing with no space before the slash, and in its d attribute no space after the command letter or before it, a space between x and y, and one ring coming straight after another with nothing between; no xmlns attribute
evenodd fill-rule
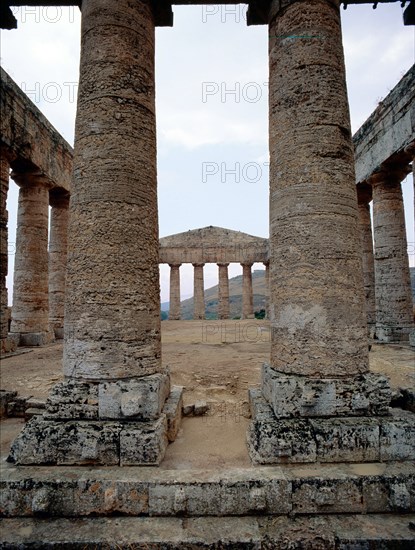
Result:
<svg viewBox="0 0 415 550"><path fill-rule="evenodd" d="M250 390L253 416L247 433L251 460L256 464L315 462L316 443L307 420L277 420L259 390Z"/></svg>

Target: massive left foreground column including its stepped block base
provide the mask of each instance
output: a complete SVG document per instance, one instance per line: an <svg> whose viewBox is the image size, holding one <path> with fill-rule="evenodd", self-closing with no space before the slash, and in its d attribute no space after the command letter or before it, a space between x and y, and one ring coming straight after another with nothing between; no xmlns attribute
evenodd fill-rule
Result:
<svg viewBox="0 0 415 550"><path fill-rule="evenodd" d="M9 460L21 464L156 465L174 439L163 413L152 5L82 2L65 379L14 442ZM180 400L177 390L173 414Z"/></svg>

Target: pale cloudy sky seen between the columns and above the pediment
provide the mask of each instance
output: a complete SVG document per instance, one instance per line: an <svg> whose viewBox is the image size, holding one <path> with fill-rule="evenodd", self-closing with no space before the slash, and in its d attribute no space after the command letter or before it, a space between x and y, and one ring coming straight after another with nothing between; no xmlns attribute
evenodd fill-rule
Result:
<svg viewBox="0 0 415 550"><path fill-rule="evenodd" d="M1 64L73 145L80 13L14 8ZM268 237L267 27L247 27L245 6L175 7L173 28L156 34L160 236L217 225ZM353 131L414 63L415 27L400 2L342 10ZM412 177L403 182L410 261L415 265ZM8 199L12 289L17 188ZM262 265L256 266L263 268ZM242 271L230 266L230 274ZM192 267L181 268L182 298ZM168 266L161 267L162 301ZM205 287L217 267L205 267Z"/></svg>

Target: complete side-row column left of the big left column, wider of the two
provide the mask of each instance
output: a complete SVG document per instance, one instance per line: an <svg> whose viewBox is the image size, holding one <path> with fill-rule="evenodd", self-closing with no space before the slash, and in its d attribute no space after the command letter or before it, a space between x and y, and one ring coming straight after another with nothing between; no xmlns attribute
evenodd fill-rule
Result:
<svg viewBox="0 0 415 550"><path fill-rule="evenodd" d="M10 332L20 334L22 346L42 346L53 339L49 329L49 182L34 172L12 172L11 177L20 189Z"/></svg>

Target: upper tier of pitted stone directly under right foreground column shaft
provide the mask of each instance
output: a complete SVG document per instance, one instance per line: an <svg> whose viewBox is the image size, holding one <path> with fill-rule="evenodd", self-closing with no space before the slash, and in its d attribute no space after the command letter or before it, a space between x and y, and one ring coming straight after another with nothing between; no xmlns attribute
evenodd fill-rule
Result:
<svg viewBox="0 0 415 550"><path fill-rule="evenodd" d="M277 418L390 414L392 391L383 374L309 378L262 368L262 395Z"/></svg>

